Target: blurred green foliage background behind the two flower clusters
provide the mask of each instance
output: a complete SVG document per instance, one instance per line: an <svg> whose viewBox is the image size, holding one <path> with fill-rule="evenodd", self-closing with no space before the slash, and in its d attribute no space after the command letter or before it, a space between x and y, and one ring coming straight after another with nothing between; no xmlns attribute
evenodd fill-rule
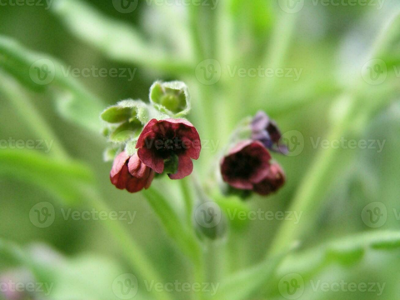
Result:
<svg viewBox="0 0 400 300"><path fill-rule="evenodd" d="M53 283L50 294L22 299L397 299L399 8L395 0L0 0L0 278ZM35 66L46 71L43 60L50 82L35 75ZM218 144L202 149L193 175L227 212L218 240L202 237L195 220L184 223L180 182L153 183L174 211L161 221L157 194L149 205L110 183L98 116L119 100L148 101L156 80L188 85L189 120ZM258 110L300 148L273 154L286 173L278 193L226 198L210 169L240 120ZM39 140L52 141L50 151ZM42 202L55 213L44 228L32 222ZM128 220L65 220L69 209ZM264 217L250 220L257 211ZM200 236L201 262L165 230L170 220ZM157 278L143 274L141 255ZM121 274L138 278L137 294L116 292ZM144 280L164 288L149 291ZM165 291L175 281L218 283L218 292Z"/></svg>

